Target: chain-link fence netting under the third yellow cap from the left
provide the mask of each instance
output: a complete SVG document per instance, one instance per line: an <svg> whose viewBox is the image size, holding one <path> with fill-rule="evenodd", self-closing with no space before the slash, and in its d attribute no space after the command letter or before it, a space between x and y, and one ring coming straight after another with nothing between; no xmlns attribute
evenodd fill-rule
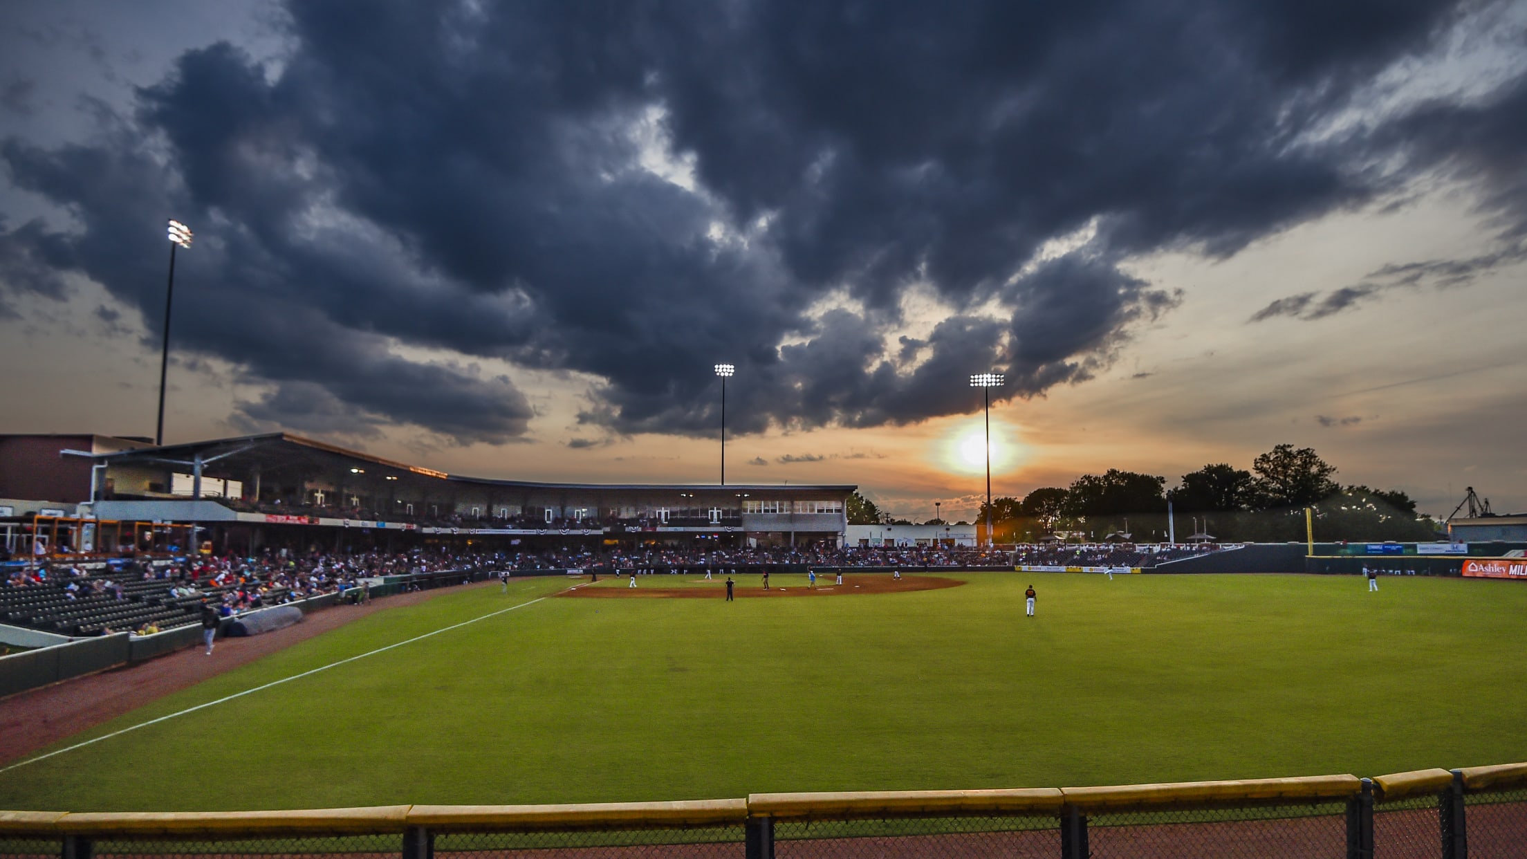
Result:
<svg viewBox="0 0 1527 859"><path fill-rule="evenodd" d="M435 859L487 859L534 856L536 859L741 859L742 825L528 831L441 833L435 836Z"/></svg>

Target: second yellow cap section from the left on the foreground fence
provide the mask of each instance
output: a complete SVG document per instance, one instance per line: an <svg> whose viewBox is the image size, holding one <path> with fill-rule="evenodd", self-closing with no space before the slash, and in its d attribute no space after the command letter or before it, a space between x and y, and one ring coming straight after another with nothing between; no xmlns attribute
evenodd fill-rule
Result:
<svg viewBox="0 0 1527 859"><path fill-rule="evenodd" d="M113 812L64 815L70 835L363 835L403 831L409 806L301 809L290 812Z"/></svg>

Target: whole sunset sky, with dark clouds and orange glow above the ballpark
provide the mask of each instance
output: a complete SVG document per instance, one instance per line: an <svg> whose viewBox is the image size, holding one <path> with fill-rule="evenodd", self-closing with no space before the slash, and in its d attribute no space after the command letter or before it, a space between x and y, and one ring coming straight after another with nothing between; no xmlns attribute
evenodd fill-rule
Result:
<svg viewBox="0 0 1527 859"><path fill-rule="evenodd" d="M1527 0L84 3L0 28L0 431L970 515L1312 446L1527 509Z"/></svg>

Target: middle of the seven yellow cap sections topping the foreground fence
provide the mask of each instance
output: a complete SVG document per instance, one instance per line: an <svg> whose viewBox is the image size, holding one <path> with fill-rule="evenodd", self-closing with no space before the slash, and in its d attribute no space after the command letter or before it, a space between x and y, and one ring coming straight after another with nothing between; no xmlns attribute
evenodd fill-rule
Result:
<svg viewBox="0 0 1527 859"><path fill-rule="evenodd" d="M852 793L753 793L754 818L869 818L881 815L1025 815L1058 812L1054 787L1014 790L886 790Z"/></svg>

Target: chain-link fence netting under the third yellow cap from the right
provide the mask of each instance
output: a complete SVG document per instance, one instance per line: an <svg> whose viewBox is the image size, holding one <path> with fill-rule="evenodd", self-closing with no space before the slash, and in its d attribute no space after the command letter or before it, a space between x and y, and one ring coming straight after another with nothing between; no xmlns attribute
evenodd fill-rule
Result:
<svg viewBox="0 0 1527 859"><path fill-rule="evenodd" d="M1087 816L1093 859L1332 856L1347 853L1347 804Z"/></svg>

